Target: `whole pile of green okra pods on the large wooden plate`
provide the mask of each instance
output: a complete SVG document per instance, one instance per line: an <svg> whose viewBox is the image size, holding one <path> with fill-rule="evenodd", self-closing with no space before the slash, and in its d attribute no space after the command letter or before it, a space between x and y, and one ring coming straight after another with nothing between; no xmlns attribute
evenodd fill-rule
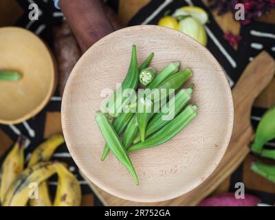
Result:
<svg viewBox="0 0 275 220"><path fill-rule="evenodd" d="M124 89L137 91L137 87L141 83L143 87L152 91L153 89L166 91L164 95L167 100L166 108L159 104L159 111L155 111L155 103L160 100L156 100L155 96L148 96L148 94L141 98L137 96L134 104L129 104L130 98L124 96L120 102L108 102L111 98L117 98L117 91L115 91L105 100L105 102L113 103L113 106L111 108L109 106L104 111L97 111L95 116L106 142L101 160L104 161L111 149L115 157L129 170L137 185L139 181L128 153L168 142L182 131L197 116L198 112L196 105L188 104L192 98L194 85L191 84L186 89L181 88L192 77L191 69L180 70L179 62L175 62L166 65L157 74L155 69L148 67L153 56L154 54L151 53L139 67L136 47L133 45L129 70L120 89L122 91ZM172 98L170 98L170 91L175 91ZM186 104L188 104L187 107ZM131 109L131 111L121 111L122 107ZM164 115L167 115L170 107L173 107L173 117L164 120ZM151 111L145 109L151 109Z"/></svg>

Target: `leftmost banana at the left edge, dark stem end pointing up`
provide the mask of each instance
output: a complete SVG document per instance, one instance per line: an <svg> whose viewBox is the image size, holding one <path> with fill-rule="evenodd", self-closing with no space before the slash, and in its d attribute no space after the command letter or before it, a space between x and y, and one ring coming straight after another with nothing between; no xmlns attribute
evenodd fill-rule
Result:
<svg viewBox="0 0 275 220"><path fill-rule="evenodd" d="M3 203L5 194L8 191L8 188L10 188L10 185L14 179L16 179L19 173L21 173L24 169L24 145L25 138L19 137L3 162L1 168L1 203Z"/></svg>

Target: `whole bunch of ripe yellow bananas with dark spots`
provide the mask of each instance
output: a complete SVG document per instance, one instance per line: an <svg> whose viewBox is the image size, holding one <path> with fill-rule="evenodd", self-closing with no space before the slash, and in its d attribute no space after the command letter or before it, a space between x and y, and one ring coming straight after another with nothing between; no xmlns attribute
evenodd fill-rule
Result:
<svg viewBox="0 0 275 220"><path fill-rule="evenodd" d="M36 147L24 169L23 146L19 138L1 168L0 201L2 206L80 206L81 191L78 180L61 162L50 162L52 154L63 144L63 135L50 137ZM54 203L50 198L47 179L58 175Z"/></svg>

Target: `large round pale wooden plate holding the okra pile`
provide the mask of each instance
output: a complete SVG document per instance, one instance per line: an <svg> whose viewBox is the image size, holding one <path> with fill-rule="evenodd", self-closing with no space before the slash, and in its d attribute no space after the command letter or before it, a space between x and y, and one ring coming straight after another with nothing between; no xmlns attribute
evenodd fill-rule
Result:
<svg viewBox="0 0 275 220"><path fill-rule="evenodd" d="M124 79L133 44L139 63L155 52L151 66L157 70L175 61L190 67L194 76L186 86L195 84L191 102L199 107L198 117L173 140L130 153L140 186L112 153L100 161L105 142L94 119L102 89L115 89ZM140 202L173 199L201 184L228 147L234 117L228 81L212 54L186 34L155 25L124 28L91 46L69 76L61 109L65 140L80 170L112 195Z"/></svg>

